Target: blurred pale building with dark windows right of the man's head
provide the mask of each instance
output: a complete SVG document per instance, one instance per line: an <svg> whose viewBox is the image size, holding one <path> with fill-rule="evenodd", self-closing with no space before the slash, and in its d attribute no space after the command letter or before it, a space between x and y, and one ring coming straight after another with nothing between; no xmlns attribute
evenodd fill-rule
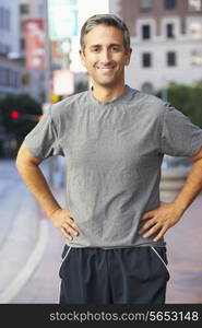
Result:
<svg viewBox="0 0 202 328"><path fill-rule="evenodd" d="M202 81L202 0L109 0L131 33L127 82L153 93Z"/></svg>

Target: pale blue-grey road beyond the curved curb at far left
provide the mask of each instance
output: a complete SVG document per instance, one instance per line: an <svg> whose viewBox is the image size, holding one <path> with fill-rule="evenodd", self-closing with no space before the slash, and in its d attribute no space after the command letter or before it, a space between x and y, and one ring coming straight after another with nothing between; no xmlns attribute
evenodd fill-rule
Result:
<svg viewBox="0 0 202 328"><path fill-rule="evenodd" d="M4 303L21 283L13 284L36 245L39 225L36 202L21 183L14 162L1 160L0 174L0 303Z"/></svg>

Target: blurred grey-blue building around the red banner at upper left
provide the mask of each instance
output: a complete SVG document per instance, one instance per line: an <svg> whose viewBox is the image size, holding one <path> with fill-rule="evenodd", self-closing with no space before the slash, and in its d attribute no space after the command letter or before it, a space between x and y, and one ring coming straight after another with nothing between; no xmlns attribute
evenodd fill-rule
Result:
<svg viewBox="0 0 202 328"><path fill-rule="evenodd" d="M25 21L45 16L45 0L0 0L0 97L28 93L45 101L44 70L25 67Z"/></svg>

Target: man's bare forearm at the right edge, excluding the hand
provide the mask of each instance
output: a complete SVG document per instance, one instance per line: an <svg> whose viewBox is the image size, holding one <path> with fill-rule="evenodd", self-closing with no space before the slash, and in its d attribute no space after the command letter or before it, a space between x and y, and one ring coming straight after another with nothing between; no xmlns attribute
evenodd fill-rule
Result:
<svg viewBox="0 0 202 328"><path fill-rule="evenodd" d="M187 180L174 200L177 209L183 213L202 190L202 160L198 160L191 167Z"/></svg>

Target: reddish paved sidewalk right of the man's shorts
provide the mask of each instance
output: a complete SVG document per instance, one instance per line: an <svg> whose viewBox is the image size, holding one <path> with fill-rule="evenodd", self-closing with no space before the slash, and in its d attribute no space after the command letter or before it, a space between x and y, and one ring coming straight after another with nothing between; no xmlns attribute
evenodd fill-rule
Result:
<svg viewBox="0 0 202 328"><path fill-rule="evenodd" d="M166 234L168 248L167 303L202 303L202 195Z"/></svg>

